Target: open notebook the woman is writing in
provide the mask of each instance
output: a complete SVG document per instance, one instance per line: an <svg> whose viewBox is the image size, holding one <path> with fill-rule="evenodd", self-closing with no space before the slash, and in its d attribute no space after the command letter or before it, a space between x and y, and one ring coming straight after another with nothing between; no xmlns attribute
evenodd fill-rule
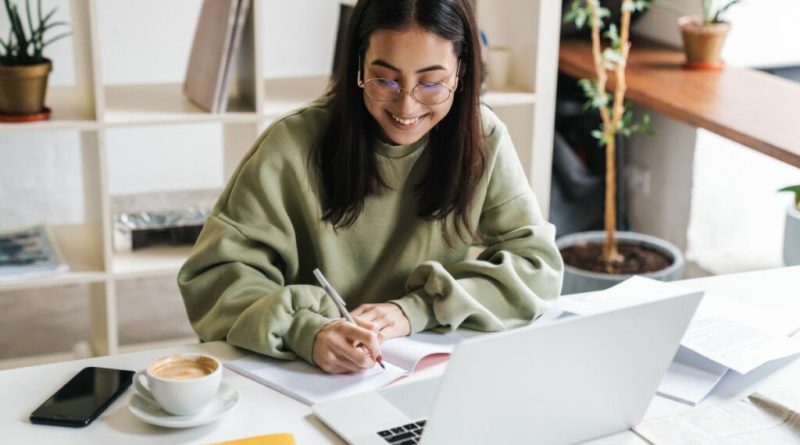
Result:
<svg viewBox="0 0 800 445"><path fill-rule="evenodd" d="M447 355L463 337L457 333L420 332L381 345L383 364L360 374L327 374L302 360L251 355L225 364L229 369L306 405L383 387L414 372L426 358Z"/></svg>

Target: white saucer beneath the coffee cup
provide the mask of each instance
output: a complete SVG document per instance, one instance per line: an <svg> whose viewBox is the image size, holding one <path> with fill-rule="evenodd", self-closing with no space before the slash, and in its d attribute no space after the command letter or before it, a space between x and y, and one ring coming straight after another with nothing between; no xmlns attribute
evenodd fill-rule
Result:
<svg viewBox="0 0 800 445"><path fill-rule="evenodd" d="M236 389L222 382L217 395L202 411L191 416L176 416L165 412L158 403L145 399L134 391L128 401L128 409L134 416L152 425L166 428L190 428L211 423L232 410L239 403Z"/></svg>

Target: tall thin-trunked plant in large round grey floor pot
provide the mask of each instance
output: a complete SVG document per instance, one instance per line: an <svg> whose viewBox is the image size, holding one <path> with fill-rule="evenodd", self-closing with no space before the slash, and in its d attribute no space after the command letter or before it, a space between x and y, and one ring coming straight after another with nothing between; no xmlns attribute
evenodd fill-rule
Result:
<svg viewBox="0 0 800 445"><path fill-rule="evenodd" d="M618 135L631 136L652 132L650 120L644 116L636 121L632 105L625 102L625 67L630 51L630 17L634 11L649 6L644 0L625 0L621 8L620 26L609 24L603 36L610 45L602 48L603 19L610 16L599 0L575 0L565 21L581 27L589 23L592 30L594 79L579 81L587 106L600 113L600 128L593 131L601 146L606 148L604 231L581 232L559 238L556 243L565 262L564 293L604 289L631 275L645 275L660 280L683 276L684 258L674 245L656 237L635 232L618 232L616 220L616 144ZM609 71L616 84L613 94L606 92Z"/></svg>

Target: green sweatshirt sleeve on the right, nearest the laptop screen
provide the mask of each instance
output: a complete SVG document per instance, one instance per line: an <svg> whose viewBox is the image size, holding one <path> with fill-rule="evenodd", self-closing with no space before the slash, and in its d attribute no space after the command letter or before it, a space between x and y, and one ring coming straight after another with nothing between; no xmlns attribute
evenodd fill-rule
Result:
<svg viewBox="0 0 800 445"><path fill-rule="evenodd" d="M505 126L497 121L490 146L486 198L478 221L485 249L476 260L426 261L393 302L411 331L435 326L497 331L530 322L561 292L563 261L555 227L544 220Z"/></svg>

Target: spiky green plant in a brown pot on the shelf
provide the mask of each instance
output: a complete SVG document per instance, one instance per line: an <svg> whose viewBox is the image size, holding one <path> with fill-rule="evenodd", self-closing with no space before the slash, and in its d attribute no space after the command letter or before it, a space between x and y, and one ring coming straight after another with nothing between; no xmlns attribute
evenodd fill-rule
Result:
<svg viewBox="0 0 800 445"><path fill-rule="evenodd" d="M25 1L24 20L16 4L11 0L4 0L4 4L10 32L7 39L0 38L0 115L12 121L31 116L47 118L44 98L52 62L43 51L69 33L50 39L46 35L66 22L52 21L56 8L42 15L41 0L35 18L30 2Z"/></svg>

